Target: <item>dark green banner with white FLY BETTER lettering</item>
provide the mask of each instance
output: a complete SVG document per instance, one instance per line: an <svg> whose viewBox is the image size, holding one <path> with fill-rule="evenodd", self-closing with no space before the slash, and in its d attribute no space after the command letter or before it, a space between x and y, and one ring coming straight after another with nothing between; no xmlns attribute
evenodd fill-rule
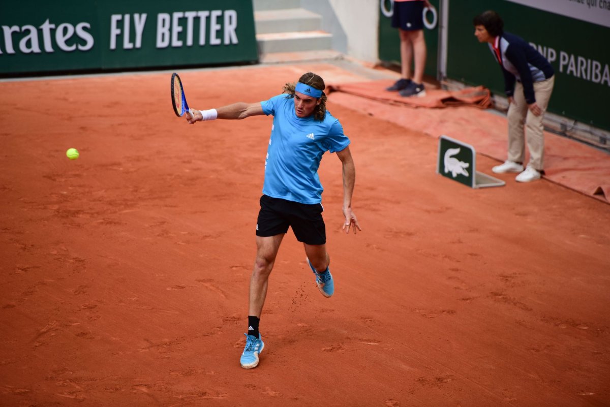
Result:
<svg viewBox="0 0 610 407"><path fill-rule="evenodd" d="M251 1L0 3L0 76L257 59Z"/></svg>

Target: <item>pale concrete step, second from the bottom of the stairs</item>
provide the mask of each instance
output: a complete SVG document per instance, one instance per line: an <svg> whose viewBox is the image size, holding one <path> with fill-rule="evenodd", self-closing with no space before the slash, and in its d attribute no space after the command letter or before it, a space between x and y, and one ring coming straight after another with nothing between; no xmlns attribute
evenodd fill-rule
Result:
<svg viewBox="0 0 610 407"><path fill-rule="evenodd" d="M259 54L331 49L332 35L328 32L300 31L258 34Z"/></svg>

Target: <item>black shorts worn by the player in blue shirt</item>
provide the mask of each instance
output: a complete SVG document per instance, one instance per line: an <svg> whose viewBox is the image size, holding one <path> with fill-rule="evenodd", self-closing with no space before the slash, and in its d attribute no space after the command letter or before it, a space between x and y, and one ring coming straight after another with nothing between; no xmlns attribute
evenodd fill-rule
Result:
<svg viewBox="0 0 610 407"><path fill-rule="evenodd" d="M306 244L325 244L326 226L321 203L309 205L267 195L260 197L256 236L281 235L292 227L296 239Z"/></svg>

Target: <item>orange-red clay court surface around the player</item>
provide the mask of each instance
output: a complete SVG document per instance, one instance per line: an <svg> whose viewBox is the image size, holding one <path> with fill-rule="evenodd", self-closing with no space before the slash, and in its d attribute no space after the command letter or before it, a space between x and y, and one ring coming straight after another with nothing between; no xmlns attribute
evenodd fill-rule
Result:
<svg viewBox="0 0 610 407"><path fill-rule="evenodd" d="M180 74L189 104L212 108L268 99L309 70L371 80L333 63ZM437 137L468 139L490 173L503 117L331 93L363 232L340 230L328 154L336 294L320 295L289 232L265 350L244 370L271 118L188 126L170 74L0 82L2 406L610 405L607 154L549 135L547 178L470 189L435 173ZM570 175L561 157L580 151L598 161Z"/></svg>

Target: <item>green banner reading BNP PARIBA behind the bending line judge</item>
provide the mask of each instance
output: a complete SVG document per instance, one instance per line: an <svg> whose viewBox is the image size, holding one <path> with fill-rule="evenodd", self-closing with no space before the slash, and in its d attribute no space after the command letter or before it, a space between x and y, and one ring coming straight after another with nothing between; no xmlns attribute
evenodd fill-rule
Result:
<svg viewBox="0 0 610 407"><path fill-rule="evenodd" d="M556 79L548 111L610 130L610 1L451 2L447 77L470 85L484 85L493 93L503 95L500 66L487 44L476 40L472 25L475 15L489 9L500 14L504 30L524 38L553 66ZM605 25L601 24L603 21Z"/></svg>

